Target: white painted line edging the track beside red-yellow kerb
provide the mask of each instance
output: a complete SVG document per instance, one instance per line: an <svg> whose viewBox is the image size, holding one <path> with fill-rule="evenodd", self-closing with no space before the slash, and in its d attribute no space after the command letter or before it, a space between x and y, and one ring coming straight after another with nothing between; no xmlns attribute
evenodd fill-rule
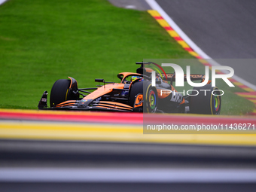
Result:
<svg viewBox="0 0 256 192"><path fill-rule="evenodd" d="M212 66L221 66L218 62L215 62L210 56L208 56L203 50L200 49L200 47L197 46L197 44L194 43L182 30L181 28L178 27L178 25L172 20L171 17L169 17L168 14L166 14L165 11L160 7L160 5L157 4L154 0L145 0L148 2L148 5L151 6L152 9L158 11L160 15L163 17L164 20L166 20L167 23L169 23L170 26L172 26L172 29L175 30L175 32L178 33L178 35L183 38L183 40L195 51L197 52L200 56L203 57L203 59L209 59L207 60ZM239 78L236 75L233 75L232 77L236 81L239 81L240 83L246 85L247 87L250 87L253 90L256 90L256 86L254 84L249 83L248 81L245 81L242 78Z"/></svg>

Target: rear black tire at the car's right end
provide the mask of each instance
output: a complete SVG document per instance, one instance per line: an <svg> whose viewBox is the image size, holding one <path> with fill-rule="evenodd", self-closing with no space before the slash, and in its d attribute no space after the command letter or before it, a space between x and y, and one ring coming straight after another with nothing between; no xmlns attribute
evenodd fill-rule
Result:
<svg viewBox="0 0 256 192"><path fill-rule="evenodd" d="M218 87L212 87L211 84L206 84L203 87L194 87L190 96L190 113L193 114L220 114L221 112L221 93ZM200 91L201 90L201 91ZM203 91L208 90L208 91ZM210 91L209 91L210 90ZM214 90L214 95L212 91Z"/></svg>

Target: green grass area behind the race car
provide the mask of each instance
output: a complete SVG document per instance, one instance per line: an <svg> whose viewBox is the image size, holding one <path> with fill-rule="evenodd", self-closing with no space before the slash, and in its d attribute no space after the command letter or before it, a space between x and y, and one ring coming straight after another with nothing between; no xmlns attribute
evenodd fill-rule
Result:
<svg viewBox="0 0 256 192"><path fill-rule="evenodd" d="M147 12L105 0L10 0L0 6L0 108L37 108L44 90L67 76L79 87L94 87L94 78L116 81L117 73L135 72L135 62L145 58L193 57ZM247 100L229 97L224 114L252 110Z"/></svg>

